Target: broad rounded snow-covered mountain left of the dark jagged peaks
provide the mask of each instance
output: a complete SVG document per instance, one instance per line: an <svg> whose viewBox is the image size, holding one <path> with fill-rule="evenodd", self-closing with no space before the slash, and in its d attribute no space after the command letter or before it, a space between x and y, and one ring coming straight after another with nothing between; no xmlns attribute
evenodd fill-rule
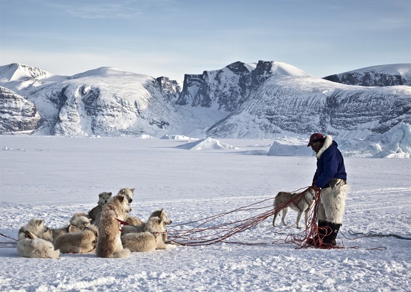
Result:
<svg viewBox="0 0 411 292"><path fill-rule="evenodd" d="M51 135L163 134L178 121L156 80L142 75L65 80L28 99L44 116L41 131Z"/></svg>

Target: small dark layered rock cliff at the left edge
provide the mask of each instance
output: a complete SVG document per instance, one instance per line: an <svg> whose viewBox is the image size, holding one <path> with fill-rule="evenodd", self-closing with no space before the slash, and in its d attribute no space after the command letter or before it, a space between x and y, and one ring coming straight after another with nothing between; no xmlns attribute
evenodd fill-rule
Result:
<svg viewBox="0 0 411 292"><path fill-rule="evenodd" d="M41 124L33 103L0 87L0 134L31 134Z"/></svg>

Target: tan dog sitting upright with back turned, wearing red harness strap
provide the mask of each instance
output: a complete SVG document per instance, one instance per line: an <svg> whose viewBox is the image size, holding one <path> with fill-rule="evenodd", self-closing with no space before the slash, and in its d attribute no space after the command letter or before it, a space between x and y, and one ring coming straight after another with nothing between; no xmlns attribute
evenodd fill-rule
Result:
<svg viewBox="0 0 411 292"><path fill-rule="evenodd" d="M99 258L126 258L130 250L121 245L121 229L127 213L132 209L123 195L109 199L101 212L96 254Z"/></svg>

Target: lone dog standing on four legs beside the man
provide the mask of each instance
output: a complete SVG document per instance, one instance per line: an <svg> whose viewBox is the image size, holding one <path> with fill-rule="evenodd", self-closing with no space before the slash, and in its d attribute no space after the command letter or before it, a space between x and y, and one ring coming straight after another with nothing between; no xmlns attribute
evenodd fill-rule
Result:
<svg viewBox="0 0 411 292"><path fill-rule="evenodd" d="M274 208L279 208L282 205L286 204L289 200L294 198L297 194L300 194L300 193L279 192L274 198ZM291 203L290 205L282 209L278 209L275 211L274 218L273 218L273 226L274 227L276 226L275 221L279 215L279 211L281 210L283 210L283 216L281 218L281 221L283 222L284 225L287 225L286 216L287 216L288 210L291 208L298 212L297 228L301 228L300 221L301 221L303 212L305 215L305 226L307 227L308 217L310 215L310 210L311 210L311 207L314 205L314 202L315 202L315 192L312 188L309 188L308 191L304 195L296 199L293 203Z"/></svg>

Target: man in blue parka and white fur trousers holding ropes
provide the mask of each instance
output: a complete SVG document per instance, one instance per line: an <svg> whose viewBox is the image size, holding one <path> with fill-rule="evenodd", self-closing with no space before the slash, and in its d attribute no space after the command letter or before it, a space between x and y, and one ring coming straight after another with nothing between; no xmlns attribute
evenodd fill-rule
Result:
<svg viewBox="0 0 411 292"><path fill-rule="evenodd" d="M310 146L317 158L312 188L321 190L321 198L317 211L318 234L308 239L307 244L331 247L335 245L335 238L343 223L345 198L349 190L344 158L337 148L337 142L330 135L324 138L320 133L312 134L307 147Z"/></svg>

